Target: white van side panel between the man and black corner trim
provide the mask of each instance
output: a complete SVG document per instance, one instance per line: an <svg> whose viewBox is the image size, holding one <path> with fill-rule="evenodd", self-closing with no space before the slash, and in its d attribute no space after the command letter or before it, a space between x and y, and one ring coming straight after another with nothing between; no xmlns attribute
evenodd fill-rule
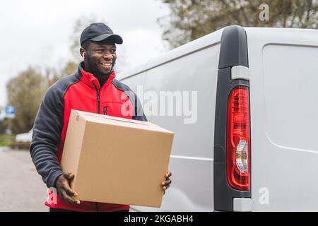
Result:
<svg viewBox="0 0 318 226"><path fill-rule="evenodd" d="M175 132L169 165L172 185L160 209L133 206L134 210L213 210L213 138L220 35L221 32L215 32L167 53L166 58L148 62L143 94L137 94L148 121ZM134 84L134 76L122 81ZM173 115L167 111L171 102L166 95L171 94ZM180 110L181 115L177 114Z"/></svg>

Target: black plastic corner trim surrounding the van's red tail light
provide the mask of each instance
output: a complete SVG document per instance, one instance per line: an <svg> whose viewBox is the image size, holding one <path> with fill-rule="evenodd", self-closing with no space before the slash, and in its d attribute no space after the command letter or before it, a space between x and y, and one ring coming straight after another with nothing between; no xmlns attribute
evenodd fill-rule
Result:
<svg viewBox="0 0 318 226"><path fill-rule="evenodd" d="M232 211L233 198L251 197L250 191L232 189L226 175L228 97L237 85L249 87L249 81L231 80L232 66L248 67L246 32L238 25L232 25L223 30L220 44L213 156L214 210L220 211Z"/></svg>

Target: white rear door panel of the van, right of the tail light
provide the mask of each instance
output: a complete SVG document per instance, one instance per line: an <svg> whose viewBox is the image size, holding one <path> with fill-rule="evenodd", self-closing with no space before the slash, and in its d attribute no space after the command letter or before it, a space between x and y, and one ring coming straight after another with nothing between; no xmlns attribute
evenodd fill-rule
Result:
<svg viewBox="0 0 318 226"><path fill-rule="evenodd" d="M252 210L318 210L318 31L246 28Z"/></svg>

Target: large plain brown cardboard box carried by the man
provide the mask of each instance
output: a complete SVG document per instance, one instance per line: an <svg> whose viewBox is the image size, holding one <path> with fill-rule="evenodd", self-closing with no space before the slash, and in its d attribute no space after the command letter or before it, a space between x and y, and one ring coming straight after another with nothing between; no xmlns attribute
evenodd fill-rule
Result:
<svg viewBox="0 0 318 226"><path fill-rule="evenodd" d="M61 167L81 201L160 207L174 133L148 121L71 111Z"/></svg>

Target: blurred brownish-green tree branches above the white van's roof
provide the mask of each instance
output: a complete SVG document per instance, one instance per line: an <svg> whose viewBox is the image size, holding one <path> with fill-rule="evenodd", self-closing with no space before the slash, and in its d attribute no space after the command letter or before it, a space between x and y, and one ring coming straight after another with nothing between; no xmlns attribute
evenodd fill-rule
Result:
<svg viewBox="0 0 318 226"><path fill-rule="evenodd" d="M162 0L170 7L170 23L163 40L178 47L227 25L317 29L318 0ZM269 20L261 20L262 4Z"/></svg>

